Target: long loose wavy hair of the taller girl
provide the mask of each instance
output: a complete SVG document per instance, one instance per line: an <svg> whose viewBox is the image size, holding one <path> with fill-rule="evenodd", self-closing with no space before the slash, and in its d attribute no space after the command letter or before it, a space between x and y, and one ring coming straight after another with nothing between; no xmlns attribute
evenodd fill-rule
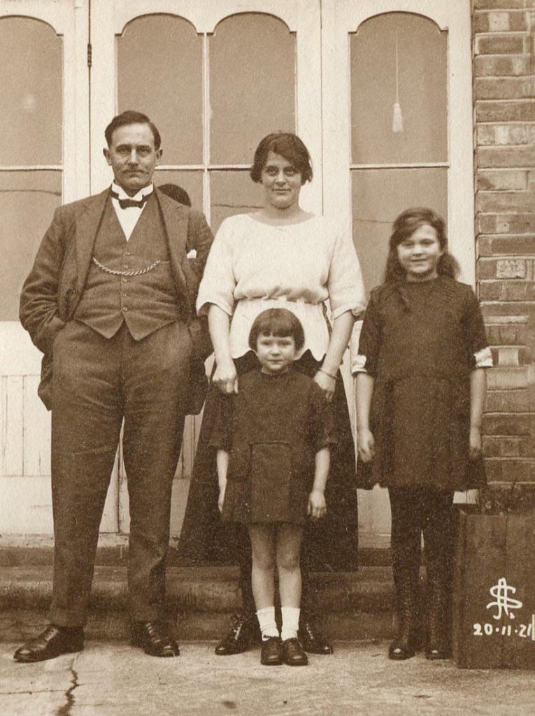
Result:
<svg viewBox="0 0 535 716"><path fill-rule="evenodd" d="M432 226L435 229L438 243L440 243L440 248L443 250L443 254L438 260L438 275L448 276L450 279L457 278L461 269L456 258L448 252L448 238L443 218L433 209L415 207L400 213L400 216L392 224L390 250L388 251L385 269L385 284L388 281L403 281L405 279L405 270L397 258L397 246L405 241L406 238L412 236L416 229L425 225Z"/></svg>

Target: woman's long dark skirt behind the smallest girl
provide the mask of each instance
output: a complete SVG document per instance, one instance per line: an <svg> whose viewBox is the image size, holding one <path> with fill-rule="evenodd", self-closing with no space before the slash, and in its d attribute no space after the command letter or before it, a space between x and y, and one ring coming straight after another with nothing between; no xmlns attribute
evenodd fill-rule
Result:
<svg viewBox="0 0 535 716"><path fill-rule="evenodd" d="M256 365L253 352L236 359L238 375L249 372ZM319 362L307 351L295 367L313 377ZM251 549L246 527L223 521L218 511L216 450L208 445L217 399L218 388L211 385L178 546L181 559L194 565L240 564L243 552L249 553ZM332 408L338 443L331 451L331 468L325 491L327 516L321 521L309 521L305 526L302 564L314 571L353 571L357 569L358 547L355 443L341 374L338 374Z"/></svg>

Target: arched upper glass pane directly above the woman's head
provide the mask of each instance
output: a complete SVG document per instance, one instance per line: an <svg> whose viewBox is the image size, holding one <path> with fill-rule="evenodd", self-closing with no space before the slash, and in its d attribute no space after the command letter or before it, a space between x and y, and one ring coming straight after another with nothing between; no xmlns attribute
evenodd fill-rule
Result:
<svg viewBox="0 0 535 716"><path fill-rule="evenodd" d="M295 37L273 16L241 14L209 47L211 163L251 164L262 137L295 131Z"/></svg>

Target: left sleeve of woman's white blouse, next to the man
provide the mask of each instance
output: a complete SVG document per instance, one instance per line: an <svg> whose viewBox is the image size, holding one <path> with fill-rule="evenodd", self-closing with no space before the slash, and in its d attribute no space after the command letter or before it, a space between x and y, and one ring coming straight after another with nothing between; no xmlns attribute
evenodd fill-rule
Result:
<svg viewBox="0 0 535 716"><path fill-rule="evenodd" d="M233 270L231 223L223 221L213 240L197 296L197 313L208 312L209 304L216 304L231 316L234 310L236 279Z"/></svg>

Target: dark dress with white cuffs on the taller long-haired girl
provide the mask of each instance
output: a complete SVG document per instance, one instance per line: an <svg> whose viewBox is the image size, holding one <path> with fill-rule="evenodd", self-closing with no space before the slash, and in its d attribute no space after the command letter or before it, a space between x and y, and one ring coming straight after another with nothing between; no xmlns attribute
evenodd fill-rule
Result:
<svg viewBox="0 0 535 716"><path fill-rule="evenodd" d="M375 377L375 457L359 462L359 487L466 490L485 483L483 460L468 459L468 438L470 374L476 357L490 360L486 347L466 284L439 276L372 291L359 354Z"/></svg>

